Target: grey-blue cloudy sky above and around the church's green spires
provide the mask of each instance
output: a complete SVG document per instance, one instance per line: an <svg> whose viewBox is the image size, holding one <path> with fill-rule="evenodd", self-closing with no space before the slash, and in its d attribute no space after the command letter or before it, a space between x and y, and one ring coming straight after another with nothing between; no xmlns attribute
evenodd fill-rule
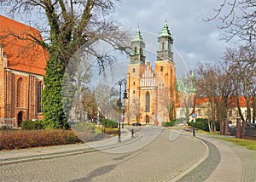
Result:
<svg viewBox="0 0 256 182"><path fill-rule="evenodd" d="M189 69L195 69L198 62L218 63L225 48L231 46L231 43L219 39L224 33L217 27L220 20L203 21L212 17L213 9L217 9L222 2L223 0L123 0L117 5L114 16L127 29L135 30L139 23L141 31L145 31L142 34L146 49L154 36L147 39L144 34L149 32L157 36L167 20L177 54L180 54ZM156 37L154 42L156 43Z"/></svg>

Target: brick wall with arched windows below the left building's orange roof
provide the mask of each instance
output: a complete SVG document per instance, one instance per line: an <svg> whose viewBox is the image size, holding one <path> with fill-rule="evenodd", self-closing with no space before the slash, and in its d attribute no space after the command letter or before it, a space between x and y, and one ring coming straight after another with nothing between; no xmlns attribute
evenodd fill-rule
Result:
<svg viewBox="0 0 256 182"><path fill-rule="evenodd" d="M19 113L22 121L42 119L42 113L37 110L37 88L42 78L26 72L4 71L0 68L0 89L3 90L0 94L0 117L14 118L15 128L20 127Z"/></svg>

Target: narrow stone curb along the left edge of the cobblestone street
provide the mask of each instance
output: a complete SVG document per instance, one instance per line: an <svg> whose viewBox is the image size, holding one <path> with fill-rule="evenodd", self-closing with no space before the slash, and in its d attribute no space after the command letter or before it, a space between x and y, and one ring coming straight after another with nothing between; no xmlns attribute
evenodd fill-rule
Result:
<svg viewBox="0 0 256 182"><path fill-rule="evenodd" d="M63 157L63 156L75 156L75 155L90 153L90 152L94 152L94 151L112 149L112 148L122 146L122 145L129 145L133 142L136 142L138 139L141 139L141 138L142 138L142 136L140 134L136 133L135 138L124 140L120 144L117 143L117 144L113 144L113 145L103 145L101 147L96 147L96 148L86 148L86 149L79 149L79 150L73 150L73 151L61 151L61 152L55 152L55 153L44 154L44 155L36 155L36 156L20 156L20 157L15 157L15 158L7 158L5 161L0 162L0 166L21 163L21 162L32 162L32 161L38 161L38 160L44 160L44 159L59 158L59 157Z"/></svg>

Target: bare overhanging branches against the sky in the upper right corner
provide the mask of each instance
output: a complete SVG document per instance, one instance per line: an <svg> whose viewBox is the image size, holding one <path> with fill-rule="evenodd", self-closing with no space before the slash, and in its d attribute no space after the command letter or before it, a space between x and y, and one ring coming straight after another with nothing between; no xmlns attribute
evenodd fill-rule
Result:
<svg viewBox="0 0 256 182"><path fill-rule="evenodd" d="M254 0L223 0L215 14L206 21L219 18L218 26L226 30L225 39L239 37L241 41L253 43L256 40L256 3Z"/></svg>

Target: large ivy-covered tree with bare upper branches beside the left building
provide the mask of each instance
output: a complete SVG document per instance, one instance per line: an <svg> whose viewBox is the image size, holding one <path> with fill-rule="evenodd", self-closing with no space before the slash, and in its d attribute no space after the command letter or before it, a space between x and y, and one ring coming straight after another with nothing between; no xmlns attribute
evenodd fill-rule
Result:
<svg viewBox="0 0 256 182"><path fill-rule="evenodd" d="M48 128L67 128L67 118L62 107L61 84L72 55L84 47L93 54L100 71L111 63L111 57L93 48L96 43L105 42L113 48L125 51L127 36L119 31L119 24L110 18L114 10L112 0L6 0L1 2L3 9L10 14L31 14L40 12L48 23L44 30L44 40L28 36L32 43L38 43L49 52L49 60L44 77L44 124ZM38 20L40 21L40 20ZM43 21L43 20L42 20ZM41 26L40 30L43 31ZM45 33L46 32L46 33Z"/></svg>

